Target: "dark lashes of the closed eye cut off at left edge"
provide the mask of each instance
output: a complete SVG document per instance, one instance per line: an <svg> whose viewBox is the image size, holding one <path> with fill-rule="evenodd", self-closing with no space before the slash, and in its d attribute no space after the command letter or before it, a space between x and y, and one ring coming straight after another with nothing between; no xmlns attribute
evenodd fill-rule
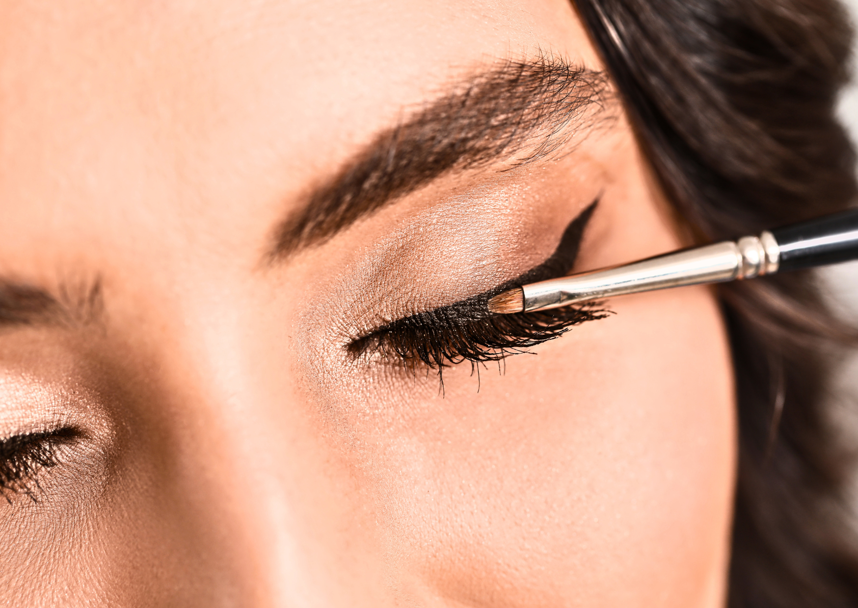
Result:
<svg viewBox="0 0 858 608"><path fill-rule="evenodd" d="M10 494L24 494L37 503L33 485L40 489L39 473L56 467L59 448L79 435L75 429L63 428L0 440L0 495L9 504Z"/></svg>

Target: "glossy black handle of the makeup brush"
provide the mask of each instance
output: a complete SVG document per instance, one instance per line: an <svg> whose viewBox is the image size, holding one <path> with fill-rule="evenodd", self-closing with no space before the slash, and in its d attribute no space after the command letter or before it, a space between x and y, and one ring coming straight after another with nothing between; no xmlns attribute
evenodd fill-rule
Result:
<svg viewBox="0 0 858 608"><path fill-rule="evenodd" d="M858 209L770 232L781 250L778 272L858 259Z"/></svg>

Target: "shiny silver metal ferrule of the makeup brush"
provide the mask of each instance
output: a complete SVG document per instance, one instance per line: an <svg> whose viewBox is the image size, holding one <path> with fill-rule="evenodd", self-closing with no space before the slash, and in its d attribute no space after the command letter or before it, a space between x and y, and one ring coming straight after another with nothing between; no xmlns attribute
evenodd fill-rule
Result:
<svg viewBox="0 0 858 608"><path fill-rule="evenodd" d="M724 241L614 268L523 286L524 310L546 310L627 293L752 279L777 272L780 250L770 232Z"/></svg>

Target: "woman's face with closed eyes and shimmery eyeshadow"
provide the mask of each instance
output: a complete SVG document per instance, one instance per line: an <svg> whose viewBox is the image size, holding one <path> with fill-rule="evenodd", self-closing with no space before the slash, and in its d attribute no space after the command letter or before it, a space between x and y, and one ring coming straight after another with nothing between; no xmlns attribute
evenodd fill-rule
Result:
<svg viewBox="0 0 858 608"><path fill-rule="evenodd" d="M709 289L443 378L384 342L468 344L390 323L596 200L576 271L687 243L570 3L17 0L0 40L4 601L722 602Z"/></svg>

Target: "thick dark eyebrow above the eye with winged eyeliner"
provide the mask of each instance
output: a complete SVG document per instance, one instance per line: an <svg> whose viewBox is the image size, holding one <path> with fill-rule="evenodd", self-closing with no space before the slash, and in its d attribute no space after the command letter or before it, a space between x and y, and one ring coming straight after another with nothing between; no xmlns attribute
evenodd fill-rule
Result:
<svg viewBox="0 0 858 608"><path fill-rule="evenodd" d="M269 258L323 242L445 173L544 158L603 119L609 99L604 72L556 57L507 61L458 81L311 188L278 227Z"/></svg>

